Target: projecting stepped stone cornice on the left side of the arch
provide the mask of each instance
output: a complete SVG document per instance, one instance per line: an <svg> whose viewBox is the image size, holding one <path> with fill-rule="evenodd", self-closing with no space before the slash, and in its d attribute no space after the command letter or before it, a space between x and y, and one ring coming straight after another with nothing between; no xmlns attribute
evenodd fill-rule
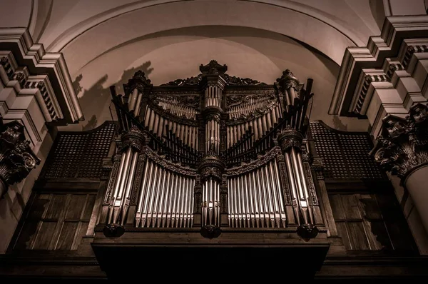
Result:
<svg viewBox="0 0 428 284"><path fill-rule="evenodd" d="M65 125L83 120L61 53L46 53L43 45L34 44L26 28L0 28L0 59L0 67L3 67L0 78L4 85L11 86L13 81L19 81L19 86L14 86L16 91L39 88L38 102L47 122Z"/></svg>

